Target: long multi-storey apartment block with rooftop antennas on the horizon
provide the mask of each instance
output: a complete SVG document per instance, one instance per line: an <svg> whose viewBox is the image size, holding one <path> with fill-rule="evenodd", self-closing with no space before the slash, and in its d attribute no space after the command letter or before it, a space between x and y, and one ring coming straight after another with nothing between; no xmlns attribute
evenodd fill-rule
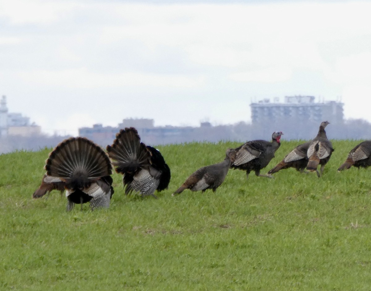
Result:
<svg viewBox="0 0 371 291"><path fill-rule="evenodd" d="M328 120L332 124L343 123L344 103L336 101L314 102L314 96L286 96L285 103L279 103L278 97L273 102L269 99L251 103L253 124L283 121L308 121L320 123Z"/></svg>

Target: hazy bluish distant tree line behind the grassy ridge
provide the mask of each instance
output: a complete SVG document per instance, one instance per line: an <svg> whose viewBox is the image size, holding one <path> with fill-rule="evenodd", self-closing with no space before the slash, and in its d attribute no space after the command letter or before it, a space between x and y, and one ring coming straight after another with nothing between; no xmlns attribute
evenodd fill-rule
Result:
<svg viewBox="0 0 371 291"><path fill-rule="evenodd" d="M371 123L363 119L349 119L341 124L330 124L326 127L329 139L357 139L371 140ZM175 128L175 127L174 127ZM167 134L161 130L139 131L141 140L148 145L165 145L187 142L219 142L238 141L246 142L253 139L270 140L272 133L282 131L282 139L286 140L309 140L316 136L319 123L305 120L285 120L274 124L249 124L239 122L234 125L206 126L178 130L176 134ZM177 128L179 129L179 128ZM0 139L0 153L13 152L16 150L39 151L40 149L53 148L63 139L69 136L7 136ZM92 138L102 147L111 145L112 138Z"/></svg>

